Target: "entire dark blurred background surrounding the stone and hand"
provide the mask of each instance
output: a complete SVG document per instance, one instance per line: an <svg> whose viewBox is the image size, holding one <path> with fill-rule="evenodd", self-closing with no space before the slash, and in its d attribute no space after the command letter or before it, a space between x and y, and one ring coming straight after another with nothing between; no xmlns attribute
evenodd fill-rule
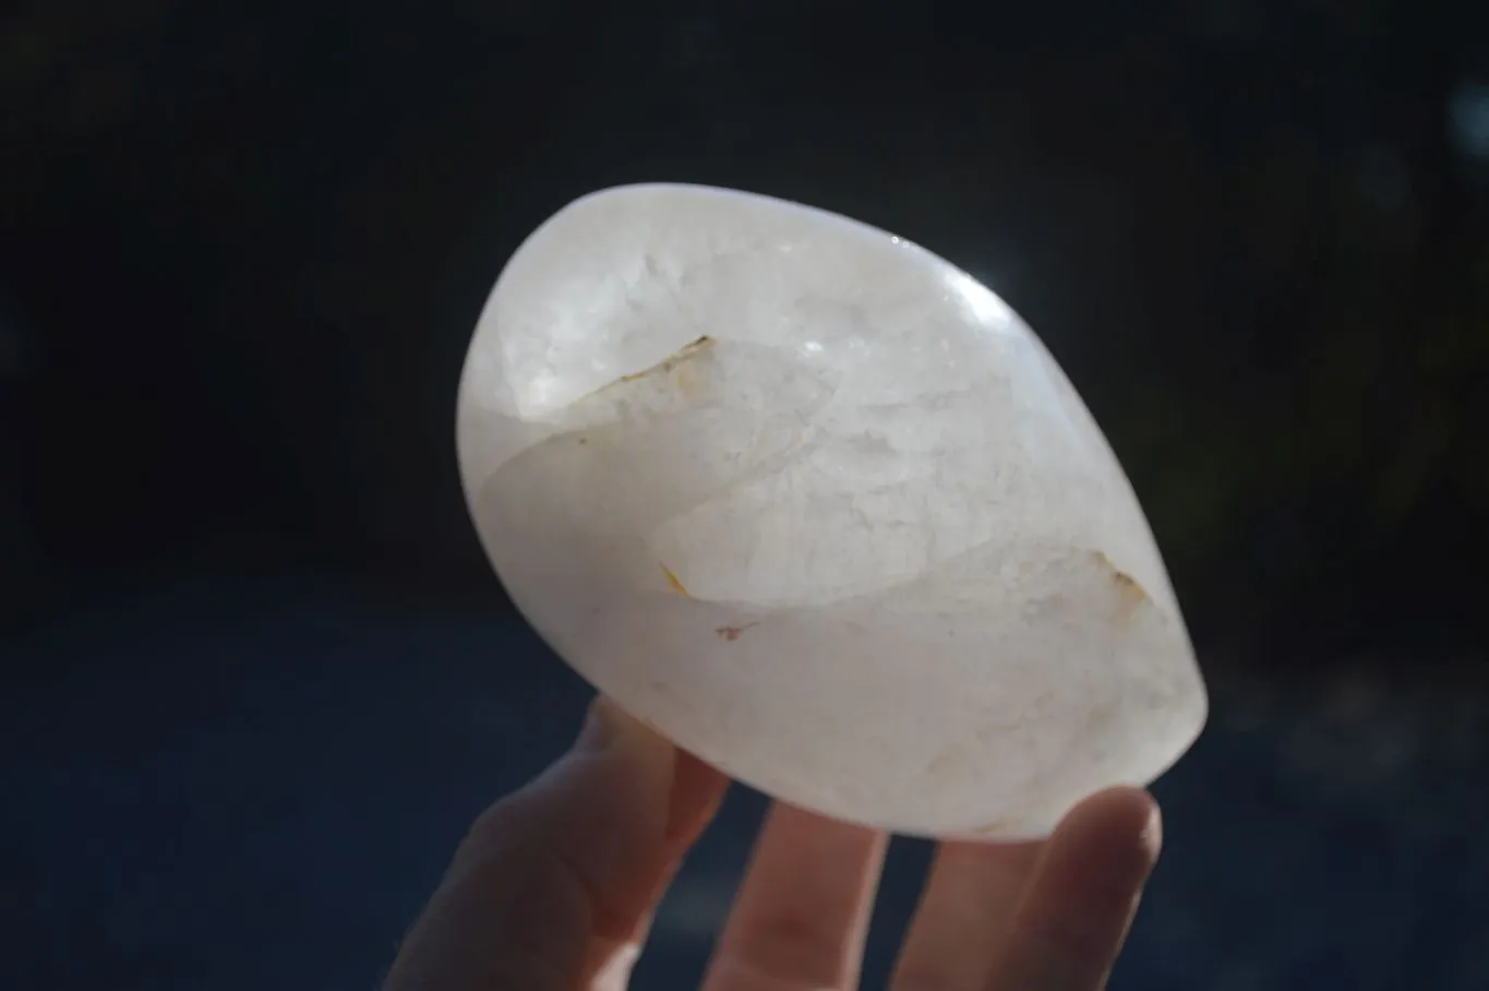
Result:
<svg viewBox="0 0 1489 991"><path fill-rule="evenodd" d="M1127 465L1214 715L1115 988L1489 987L1489 6L36 0L0 100L0 985L375 985L587 697L465 514L469 331L663 179L963 265Z"/></svg>

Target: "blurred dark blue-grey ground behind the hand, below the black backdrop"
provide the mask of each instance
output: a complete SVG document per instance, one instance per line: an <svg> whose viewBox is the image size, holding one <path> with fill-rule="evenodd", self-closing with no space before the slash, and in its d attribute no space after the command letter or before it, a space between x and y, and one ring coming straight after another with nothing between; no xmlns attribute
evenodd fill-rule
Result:
<svg viewBox="0 0 1489 991"><path fill-rule="evenodd" d="M466 823L588 696L515 618L310 581L140 592L4 650L45 674L0 702L18 991L368 991ZM1489 987L1486 715L1446 683L1217 684L1155 788L1164 860L1114 988ZM761 809L731 797L637 987L692 982ZM925 858L892 854L870 987Z"/></svg>

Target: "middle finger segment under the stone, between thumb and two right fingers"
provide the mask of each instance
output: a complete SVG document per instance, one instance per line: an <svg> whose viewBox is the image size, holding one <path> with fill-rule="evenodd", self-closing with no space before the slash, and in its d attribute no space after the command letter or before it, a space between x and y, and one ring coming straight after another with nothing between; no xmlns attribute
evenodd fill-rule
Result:
<svg viewBox="0 0 1489 991"><path fill-rule="evenodd" d="M853 988L889 839L776 803L706 991Z"/></svg>

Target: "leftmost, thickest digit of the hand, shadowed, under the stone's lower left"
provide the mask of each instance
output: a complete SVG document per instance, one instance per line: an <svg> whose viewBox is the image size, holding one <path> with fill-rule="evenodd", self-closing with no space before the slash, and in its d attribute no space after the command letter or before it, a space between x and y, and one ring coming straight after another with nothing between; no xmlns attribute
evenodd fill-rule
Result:
<svg viewBox="0 0 1489 991"><path fill-rule="evenodd" d="M613 984L724 787L599 700L569 754L476 820L386 991L573 991L602 972Z"/></svg>

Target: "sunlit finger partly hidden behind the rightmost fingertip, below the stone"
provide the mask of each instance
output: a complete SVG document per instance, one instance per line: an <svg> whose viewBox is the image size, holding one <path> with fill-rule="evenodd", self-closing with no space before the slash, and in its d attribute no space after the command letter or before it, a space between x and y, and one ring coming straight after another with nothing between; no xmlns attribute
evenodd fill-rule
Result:
<svg viewBox="0 0 1489 991"><path fill-rule="evenodd" d="M978 991L1041 843L943 843L895 964L895 991Z"/></svg>

